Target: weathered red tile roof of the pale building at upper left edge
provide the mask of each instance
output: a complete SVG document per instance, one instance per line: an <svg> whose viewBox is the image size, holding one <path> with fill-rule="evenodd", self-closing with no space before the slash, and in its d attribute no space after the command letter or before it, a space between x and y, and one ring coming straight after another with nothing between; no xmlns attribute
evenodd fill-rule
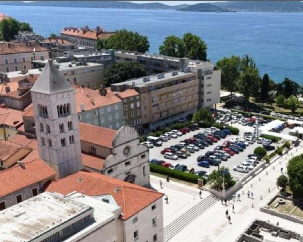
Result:
<svg viewBox="0 0 303 242"><path fill-rule="evenodd" d="M17 53L30 53L48 51L38 44L33 43L32 46L27 46L25 42L0 42L0 55L17 54Z"/></svg>

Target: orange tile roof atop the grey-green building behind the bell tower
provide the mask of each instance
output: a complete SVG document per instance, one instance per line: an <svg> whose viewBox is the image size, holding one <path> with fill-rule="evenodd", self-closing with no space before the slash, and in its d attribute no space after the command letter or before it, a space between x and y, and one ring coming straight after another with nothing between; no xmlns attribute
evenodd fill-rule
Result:
<svg viewBox="0 0 303 242"><path fill-rule="evenodd" d="M110 88L107 88L107 94L104 96L101 96L99 94L99 90L92 90L89 88L81 88L81 87L75 87L76 88L76 107L77 107L77 113L81 112L81 104L84 104L85 111L91 110L95 108L104 107L107 105L112 105L115 103L121 103L122 101L120 98L118 98L111 90Z"/></svg>

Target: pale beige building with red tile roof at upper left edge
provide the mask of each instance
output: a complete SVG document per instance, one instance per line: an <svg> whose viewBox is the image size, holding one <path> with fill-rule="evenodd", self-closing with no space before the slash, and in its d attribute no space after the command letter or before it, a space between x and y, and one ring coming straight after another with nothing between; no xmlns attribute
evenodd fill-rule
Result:
<svg viewBox="0 0 303 242"><path fill-rule="evenodd" d="M0 42L0 72L32 69L31 61L48 59L48 52L32 42Z"/></svg>

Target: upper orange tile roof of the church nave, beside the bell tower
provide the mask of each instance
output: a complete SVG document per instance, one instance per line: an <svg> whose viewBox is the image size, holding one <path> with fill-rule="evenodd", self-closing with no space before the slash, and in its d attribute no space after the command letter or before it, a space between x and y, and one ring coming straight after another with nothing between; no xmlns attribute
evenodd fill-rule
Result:
<svg viewBox="0 0 303 242"><path fill-rule="evenodd" d="M106 148L112 147L116 130L79 122L80 140Z"/></svg>

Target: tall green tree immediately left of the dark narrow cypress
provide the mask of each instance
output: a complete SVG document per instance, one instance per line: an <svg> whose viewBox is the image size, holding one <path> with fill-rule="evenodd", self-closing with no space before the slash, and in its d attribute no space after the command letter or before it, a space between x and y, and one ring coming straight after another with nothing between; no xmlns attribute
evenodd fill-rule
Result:
<svg viewBox="0 0 303 242"><path fill-rule="evenodd" d="M243 56L241 59L239 80L240 92L243 94L245 101L249 101L249 97L259 91L260 77L255 61L248 55Z"/></svg>

